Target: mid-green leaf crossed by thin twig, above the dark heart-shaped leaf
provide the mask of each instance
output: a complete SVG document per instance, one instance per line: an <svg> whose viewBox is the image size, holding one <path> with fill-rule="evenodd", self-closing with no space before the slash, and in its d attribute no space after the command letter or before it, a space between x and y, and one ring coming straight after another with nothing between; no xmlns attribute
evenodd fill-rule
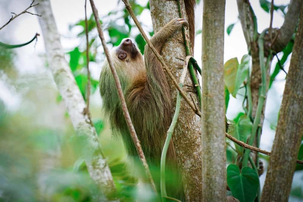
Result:
<svg viewBox="0 0 303 202"><path fill-rule="evenodd" d="M243 114L238 121L234 122L234 130L230 134L237 140L246 142L251 134L252 122L246 114ZM243 154L244 148L235 144L236 150L239 154Z"/></svg>

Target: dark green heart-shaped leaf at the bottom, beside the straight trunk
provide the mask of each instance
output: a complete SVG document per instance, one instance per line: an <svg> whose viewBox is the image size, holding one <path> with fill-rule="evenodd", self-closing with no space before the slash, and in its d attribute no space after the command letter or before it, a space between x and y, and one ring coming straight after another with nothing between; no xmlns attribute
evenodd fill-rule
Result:
<svg viewBox="0 0 303 202"><path fill-rule="evenodd" d="M255 170L250 167L240 169L231 164L227 167L227 184L232 195L240 202L252 202L257 196L259 178Z"/></svg>

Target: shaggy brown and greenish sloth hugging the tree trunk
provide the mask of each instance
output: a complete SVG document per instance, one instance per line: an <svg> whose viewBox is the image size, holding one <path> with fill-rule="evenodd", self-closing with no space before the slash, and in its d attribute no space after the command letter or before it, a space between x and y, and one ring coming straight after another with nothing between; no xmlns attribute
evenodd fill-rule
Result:
<svg viewBox="0 0 303 202"><path fill-rule="evenodd" d="M151 38L150 41L158 52L182 25L187 28L189 26L183 18L172 19ZM113 48L111 56L145 157L149 164L159 165L166 132L172 119L171 93L165 73L151 48L145 46L143 58L130 38L123 39L118 47ZM122 136L128 155L137 156L107 60L100 75L100 94L113 134ZM178 167L172 140L167 151L167 164L171 168ZM181 174L178 175L181 181ZM181 195L184 196L182 184L179 185L178 189L180 188Z"/></svg>

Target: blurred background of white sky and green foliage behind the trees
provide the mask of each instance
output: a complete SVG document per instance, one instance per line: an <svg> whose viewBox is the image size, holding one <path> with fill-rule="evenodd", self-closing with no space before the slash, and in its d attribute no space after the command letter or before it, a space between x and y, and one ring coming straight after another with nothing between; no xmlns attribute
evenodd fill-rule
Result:
<svg viewBox="0 0 303 202"><path fill-rule="evenodd" d="M259 33L270 22L269 13L261 7L260 2L251 1L258 19ZM19 13L30 3L29 0L0 0L0 26L9 20L11 12ZM66 60L84 96L87 84L84 1L51 0L51 4ZM102 0L95 1L95 4L105 29L108 48L120 44L123 38L131 37L143 52L145 41L128 16L123 3ZM152 36L148 1L136 0L131 1L131 4L145 32ZM275 0L275 5L285 5L285 10L278 9L274 12L273 27L282 25L288 4L287 0ZM36 13L33 8L29 11ZM202 11L203 1L198 1L195 12L197 35L194 55L200 66ZM152 201L154 196L148 192L148 187L145 191L138 191L135 186L138 176L126 164L128 159L122 141L112 137L107 119L102 115L98 78L105 55L89 3L87 12L91 46L89 68L92 75L90 111L103 153L111 167L122 201ZM232 24L233 28L230 26ZM225 30L224 61L235 57L240 61L247 54L247 46L235 0L226 1ZM21 44L29 41L36 32L42 34L38 17L26 13L0 30L0 41ZM280 59L282 56L283 53L278 54ZM286 71L290 57L291 55L284 64ZM276 63L275 58L271 73ZM285 76L280 71L268 91L261 136L261 148L267 151L271 151L275 135ZM75 141L75 131L48 69L42 35L36 43L32 42L21 48L0 48L0 89L0 201L94 201L98 195L97 187L90 180L77 152L81 144ZM237 98L230 96L228 119L236 120L243 113L243 94L244 89L241 89ZM228 155L228 163L233 161L232 158L232 155ZM265 173L260 177L261 188L268 157L263 157L262 161ZM297 167L289 201L303 201L302 169L303 167Z"/></svg>

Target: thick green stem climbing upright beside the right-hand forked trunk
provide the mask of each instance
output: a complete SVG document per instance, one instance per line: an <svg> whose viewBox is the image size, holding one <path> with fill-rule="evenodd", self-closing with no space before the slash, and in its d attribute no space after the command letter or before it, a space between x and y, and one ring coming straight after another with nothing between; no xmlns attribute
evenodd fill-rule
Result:
<svg viewBox="0 0 303 202"><path fill-rule="evenodd" d="M258 39L258 46L259 46L259 60L260 60L260 68L261 68L261 89L260 89L260 96L258 99L258 105L257 105L257 111L255 115L255 119L252 125L251 129L251 136L249 138L248 144L252 145L254 143L257 130L258 130L258 125L260 124L261 120L261 114L262 114L262 109L263 105L265 102L265 96L266 96L266 68L264 64L264 35L267 29L265 29L261 35L259 36ZM245 149L243 161L242 161L242 166L247 166L248 163L248 157L249 157L250 150Z"/></svg>

